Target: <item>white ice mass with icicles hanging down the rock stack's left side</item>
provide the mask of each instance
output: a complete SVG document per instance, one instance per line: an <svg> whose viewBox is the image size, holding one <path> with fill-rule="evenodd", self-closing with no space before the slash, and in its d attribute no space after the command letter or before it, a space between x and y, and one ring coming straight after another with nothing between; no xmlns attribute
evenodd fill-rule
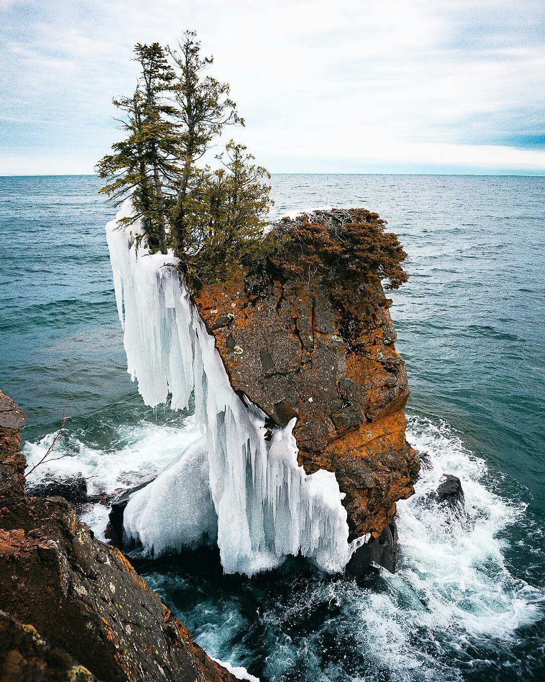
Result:
<svg viewBox="0 0 545 682"><path fill-rule="evenodd" d="M127 371L149 406L172 394L172 409L185 409L193 394L202 436L131 496L125 533L155 554L217 540L226 573L255 574L299 552L342 570L368 538L348 542L334 473L298 465L295 419L265 440L266 415L234 393L174 255L138 246L138 223L119 226L129 209L106 226Z"/></svg>

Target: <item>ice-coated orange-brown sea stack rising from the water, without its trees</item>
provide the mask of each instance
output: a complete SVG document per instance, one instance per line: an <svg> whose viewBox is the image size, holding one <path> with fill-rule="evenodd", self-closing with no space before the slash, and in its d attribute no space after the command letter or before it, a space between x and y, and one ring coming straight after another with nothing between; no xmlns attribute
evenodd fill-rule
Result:
<svg viewBox="0 0 545 682"><path fill-rule="evenodd" d="M395 503L419 462L391 301L364 267L381 240L397 262L396 237L364 209L285 219L270 231L287 248L204 284L146 252L130 211L107 227L128 372L149 406L193 396L203 435L131 494L126 537L154 555L217 542L225 573L290 554L341 572L360 547L352 573L394 569Z"/></svg>

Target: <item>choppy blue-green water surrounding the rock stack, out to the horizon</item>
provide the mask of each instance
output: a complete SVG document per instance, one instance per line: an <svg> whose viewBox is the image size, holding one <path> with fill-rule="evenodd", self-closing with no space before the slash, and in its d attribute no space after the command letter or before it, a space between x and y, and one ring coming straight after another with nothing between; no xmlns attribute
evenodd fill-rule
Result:
<svg viewBox="0 0 545 682"><path fill-rule="evenodd" d="M408 438L429 454L399 503L401 569L356 582L305 561L224 577L211 550L142 562L216 658L262 680L543 679L545 179L273 177L275 215L331 205L386 218L409 252L394 292L409 370ZM55 462L95 490L134 484L195 436L191 415L142 405L125 374L93 177L0 178L0 387L44 451L74 394ZM461 518L430 506L441 473ZM42 474L43 475L43 474ZM87 520L100 533L106 510Z"/></svg>

